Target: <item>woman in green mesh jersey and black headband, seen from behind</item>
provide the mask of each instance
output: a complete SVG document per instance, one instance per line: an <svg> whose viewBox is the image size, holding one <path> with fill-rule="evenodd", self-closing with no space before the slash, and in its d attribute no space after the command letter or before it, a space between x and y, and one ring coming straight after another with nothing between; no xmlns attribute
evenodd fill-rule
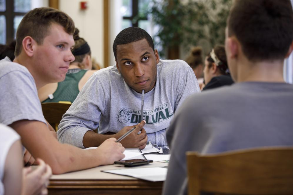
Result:
<svg viewBox="0 0 293 195"><path fill-rule="evenodd" d="M91 49L84 38L79 37L79 29L75 28L73 35L74 48L72 54L75 60L70 63L65 80L50 83L38 90L40 101L44 102L73 102L89 77L96 72L91 70Z"/></svg>

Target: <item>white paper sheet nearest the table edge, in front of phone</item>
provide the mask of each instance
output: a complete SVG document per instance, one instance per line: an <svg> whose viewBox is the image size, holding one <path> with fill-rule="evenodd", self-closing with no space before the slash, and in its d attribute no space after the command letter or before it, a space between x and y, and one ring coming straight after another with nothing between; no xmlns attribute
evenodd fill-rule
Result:
<svg viewBox="0 0 293 195"><path fill-rule="evenodd" d="M103 172L132 176L132 177L135 177L138 179L144 179L147 181L165 181L167 176L167 168L164 168L164 167L114 169L114 170L106 170Z"/></svg>

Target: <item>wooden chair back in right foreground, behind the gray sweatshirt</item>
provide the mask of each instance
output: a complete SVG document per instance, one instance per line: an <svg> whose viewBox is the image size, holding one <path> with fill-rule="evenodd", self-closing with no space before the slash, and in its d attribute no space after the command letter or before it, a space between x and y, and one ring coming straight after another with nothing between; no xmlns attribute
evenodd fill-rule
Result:
<svg viewBox="0 0 293 195"><path fill-rule="evenodd" d="M189 195L293 194L293 147L267 147L215 155L187 152Z"/></svg>

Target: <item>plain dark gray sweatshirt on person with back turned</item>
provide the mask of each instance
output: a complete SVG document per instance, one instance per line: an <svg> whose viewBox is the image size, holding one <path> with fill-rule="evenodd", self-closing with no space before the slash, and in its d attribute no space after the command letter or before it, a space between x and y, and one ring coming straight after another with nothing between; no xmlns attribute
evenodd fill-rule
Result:
<svg viewBox="0 0 293 195"><path fill-rule="evenodd" d="M167 131L163 194L186 194L186 151L202 154L293 146L293 85L245 82L187 98Z"/></svg>

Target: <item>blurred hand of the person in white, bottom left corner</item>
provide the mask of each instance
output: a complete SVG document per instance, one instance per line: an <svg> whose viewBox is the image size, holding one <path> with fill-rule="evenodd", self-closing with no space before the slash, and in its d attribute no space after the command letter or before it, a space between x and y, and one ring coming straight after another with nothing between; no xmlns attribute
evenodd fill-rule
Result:
<svg viewBox="0 0 293 195"><path fill-rule="evenodd" d="M22 195L48 194L47 186L52 175L51 167L41 159L37 159L39 166L32 170L31 167L23 169Z"/></svg>

